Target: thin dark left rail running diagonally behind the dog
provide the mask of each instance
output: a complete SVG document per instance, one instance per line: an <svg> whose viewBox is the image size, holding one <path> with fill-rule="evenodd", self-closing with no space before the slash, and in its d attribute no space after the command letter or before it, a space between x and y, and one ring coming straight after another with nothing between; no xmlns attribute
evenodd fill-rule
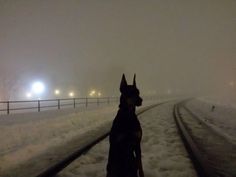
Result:
<svg viewBox="0 0 236 177"><path fill-rule="evenodd" d="M158 104L154 104L154 105L150 105L150 106L146 106L144 108L141 108L141 109L139 109L137 111L137 115L140 115L140 114L144 113L145 111L148 111L148 110L150 110L150 109L152 109L152 108L154 108L156 106L162 105L164 103L166 103L166 102L162 102L162 103L158 103ZM89 149L91 149L97 143L99 143L102 140L104 140L109 135L109 133L110 132L106 132L103 135L101 135L100 137L94 139L93 141L91 141L90 143L88 143L87 145L82 147L81 149L78 149L77 151L71 153L66 158L60 160L56 164L54 164L51 167L45 169L44 171L42 171L41 173L36 175L36 177L51 177L51 176L55 176L57 173L59 173L65 167L67 167L70 163L72 163L75 159L79 158L82 154L84 154L87 151L89 151Z"/></svg>

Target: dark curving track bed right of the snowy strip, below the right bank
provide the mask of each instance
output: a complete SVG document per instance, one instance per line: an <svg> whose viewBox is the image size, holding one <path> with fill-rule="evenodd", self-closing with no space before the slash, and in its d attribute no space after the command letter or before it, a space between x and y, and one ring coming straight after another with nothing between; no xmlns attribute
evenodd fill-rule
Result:
<svg viewBox="0 0 236 177"><path fill-rule="evenodd" d="M174 106L173 115L181 138L200 177L235 177L236 146L209 128L185 102Z"/></svg>

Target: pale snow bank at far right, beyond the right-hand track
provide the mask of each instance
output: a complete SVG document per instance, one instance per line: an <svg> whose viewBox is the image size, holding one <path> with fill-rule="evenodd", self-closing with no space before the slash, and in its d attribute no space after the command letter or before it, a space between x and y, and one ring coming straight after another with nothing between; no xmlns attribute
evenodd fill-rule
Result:
<svg viewBox="0 0 236 177"><path fill-rule="evenodd" d="M216 98L199 98L187 102L186 107L214 131L236 143L235 102Z"/></svg>

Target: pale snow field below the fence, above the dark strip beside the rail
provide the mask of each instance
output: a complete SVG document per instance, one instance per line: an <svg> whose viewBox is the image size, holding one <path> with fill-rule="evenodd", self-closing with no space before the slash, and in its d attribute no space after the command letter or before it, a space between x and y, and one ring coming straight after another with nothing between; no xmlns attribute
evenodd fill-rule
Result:
<svg viewBox="0 0 236 177"><path fill-rule="evenodd" d="M106 124L115 116L116 107L112 105L86 110L64 109L1 116L0 176L4 176L6 171L18 171L12 169Z"/></svg>

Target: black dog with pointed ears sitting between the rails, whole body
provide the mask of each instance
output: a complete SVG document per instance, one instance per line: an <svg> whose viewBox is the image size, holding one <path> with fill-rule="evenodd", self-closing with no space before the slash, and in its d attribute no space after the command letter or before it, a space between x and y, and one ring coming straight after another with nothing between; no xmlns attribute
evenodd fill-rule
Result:
<svg viewBox="0 0 236 177"><path fill-rule="evenodd" d="M127 85L123 74L120 84L120 105L110 132L110 150L107 177L144 177L140 141L142 129L135 114L135 107L142 105L136 87Z"/></svg>

